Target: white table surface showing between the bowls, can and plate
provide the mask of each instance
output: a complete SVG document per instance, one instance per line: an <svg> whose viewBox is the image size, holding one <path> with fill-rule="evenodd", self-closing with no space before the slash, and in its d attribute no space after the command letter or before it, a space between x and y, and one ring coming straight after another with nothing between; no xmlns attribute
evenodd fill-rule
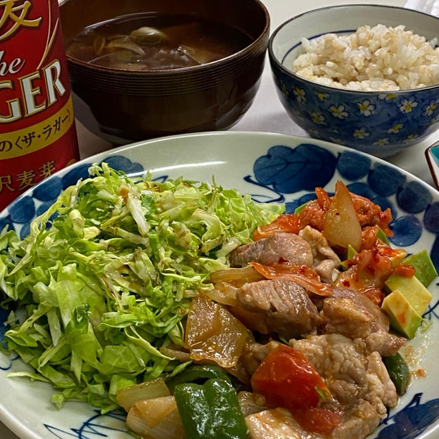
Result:
<svg viewBox="0 0 439 439"><path fill-rule="evenodd" d="M104 1L104 0L103 0ZM290 17L327 5L346 3L381 3L385 5L403 6L405 0L362 0L362 1L340 1L340 0L262 0L268 8L271 18L271 30ZM81 123L77 122L78 141L80 145L81 158L102 152L111 147L110 143L99 139L86 130ZM274 82L270 72L268 60L265 63L265 70L261 80L261 87L257 93L254 103L244 117L230 130L239 131L265 131L281 132L283 134L295 134L307 136L307 133L296 126L294 121L287 116L281 102L278 100L274 88ZM427 162L425 161L425 150L429 145L439 141L439 130L431 134L427 139L418 143L403 152L388 158L388 161L399 166L412 174L433 185ZM13 396L12 396L13 397ZM0 422L0 439L19 439L8 427Z"/></svg>

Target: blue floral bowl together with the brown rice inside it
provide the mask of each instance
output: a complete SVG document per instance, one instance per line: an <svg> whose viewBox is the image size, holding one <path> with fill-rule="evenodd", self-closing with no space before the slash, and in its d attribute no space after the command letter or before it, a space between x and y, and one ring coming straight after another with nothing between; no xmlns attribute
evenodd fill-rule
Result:
<svg viewBox="0 0 439 439"><path fill-rule="evenodd" d="M344 39L354 40L359 28L364 35L349 47ZM390 28L405 43L379 47L379 38L396 38ZM315 139L380 157L416 145L439 126L438 51L430 44L437 29L437 16L387 5L337 5L294 16L268 45L281 104ZM321 41L333 58L319 60L321 47L305 54ZM421 67L425 60L428 67Z"/></svg>

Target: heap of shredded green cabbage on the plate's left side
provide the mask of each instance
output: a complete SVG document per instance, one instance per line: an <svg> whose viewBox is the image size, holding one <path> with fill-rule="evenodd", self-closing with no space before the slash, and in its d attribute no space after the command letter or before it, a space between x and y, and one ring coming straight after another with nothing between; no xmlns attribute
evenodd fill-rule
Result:
<svg viewBox="0 0 439 439"><path fill-rule="evenodd" d="M127 385L178 366L161 346L182 345L191 297L228 267L228 253L284 206L182 178L131 180L102 165L66 189L20 240L0 235L0 289L11 311L2 350L47 381L52 401L102 412Z"/></svg>

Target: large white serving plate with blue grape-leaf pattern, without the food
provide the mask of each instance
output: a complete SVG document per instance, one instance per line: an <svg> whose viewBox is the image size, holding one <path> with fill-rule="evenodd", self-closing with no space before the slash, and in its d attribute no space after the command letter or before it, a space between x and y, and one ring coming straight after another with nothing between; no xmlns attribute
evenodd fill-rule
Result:
<svg viewBox="0 0 439 439"><path fill-rule="evenodd" d="M439 192L418 178L378 158L332 143L261 132L185 134L134 143L76 163L36 185L0 214L0 226L10 224L22 237L35 215L47 209L60 191L86 177L88 166L106 161L128 175L150 171L157 179L184 176L250 193L257 202L285 202L287 211L313 197L314 187L332 192L343 180L355 193L366 195L394 215L392 244L409 252L426 248L439 268ZM436 438L439 434L439 303L438 279L425 313L432 324L418 331L410 364L416 364L412 384L372 438ZM1 311L5 320L6 313ZM3 332L2 332L3 331ZM0 330L3 337L5 328ZM22 370L14 356L0 355L0 420L23 439L126 439L123 412L99 414L80 402L61 410L51 405L45 383L8 378ZM425 372L425 373L424 373Z"/></svg>

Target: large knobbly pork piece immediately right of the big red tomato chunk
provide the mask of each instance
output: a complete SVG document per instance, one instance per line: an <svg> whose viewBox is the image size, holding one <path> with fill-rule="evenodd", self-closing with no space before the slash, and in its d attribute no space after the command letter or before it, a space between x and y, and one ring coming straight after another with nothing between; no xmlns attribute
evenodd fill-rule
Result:
<svg viewBox="0 0 439 439"><path fill-rule="evenodd" d="M367 436L377 427L379 419L385 418L386 406L396 405L396 389L381 356L377 352L368 353L364 349L363 340L351 340L340 334L325 334L290 340L289 343L311 361L333 398L342 405L345 411L342 425L346 430L348 425L351 427L340 437ZM365 410L368 413L366 418ZM333 437L339 436L334 432Z"/></svg>

